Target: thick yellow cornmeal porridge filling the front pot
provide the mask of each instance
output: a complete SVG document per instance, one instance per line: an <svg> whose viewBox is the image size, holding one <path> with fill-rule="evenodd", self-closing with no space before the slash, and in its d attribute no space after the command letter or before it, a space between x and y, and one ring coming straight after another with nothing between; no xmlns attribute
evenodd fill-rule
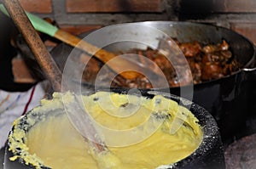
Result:
<svg viewBox="0 0 256 169"><path fill-rule="evenodd" d="M150 121L151 125L156 124L153 125L156 126L155 132L141 142L131 144L128 137L106 137L104 140L106 143L119 145L108 146L112 155L117 157L120 162L113 168L153 169L157 166L172 164L193 153L201 144L203 133L197 123L198 120L189 110L179 106L171 99L162 96L147 99L118 93L111 93L108 98L108 95L109 93L100 92L83 96L86 109L102 126L114 130L129 130L138 127L145 121ZM36 168L44 165L54 169L97 169L104 168L104 165L99 164L102 161L103 163L114 163L113 159L115 158L108 153L97 155L97 157L91 155L84 138L68 121L63 110L62 100L73 101L73 95L54 93L53 99L42 100L42 106L33 109L27 115L26 121L31 125L36 124L28 133L20 130L22 127L19 126L20 119L15 121L14 132L9 135L9 145L13 151L17 147L22 151L20 155L16 154L11 160L20 157L27 164L30 163ZM127 104L128 102L129 104ZM125 106L129 107L130 104L133 105L131 110L136 110L136 113L125 116L127 113ZM53 113L55 111L60 111L59 115L49 115L50 113L55 114ZM38 123L33 119L35 115L32 114L40 114ZM163 117L166 119L160 121ZM158 124L161 124L160 127L157 127ZM148 127L151 126L148 124L140 127L138 133L147 132ZM178 129L177 132L173 132L173 128ZM20 140L20 143L17 140ZM105 168L108 168L108 165Z"/></svg>

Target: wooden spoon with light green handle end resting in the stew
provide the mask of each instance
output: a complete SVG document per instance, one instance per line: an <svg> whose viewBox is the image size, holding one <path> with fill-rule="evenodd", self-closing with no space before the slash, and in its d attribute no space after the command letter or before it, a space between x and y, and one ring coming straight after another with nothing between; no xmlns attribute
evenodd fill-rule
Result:
<svg viewBox="0 0 256 169"><path fill-rule="evenodd" d="M1 4L0 4L0 10L4 14L8 15L6 9ZM116 54L110 53L107 50L104 50L102 48L97 48L96 46L90 44L89 42L85 42L79 37L73 36L67 31L62 31L61 29L57 28L55 25L49 24L47 21L40 19L38 16L34 14L30 14L26 12L26 15L28 19L31 21L33 27L37 31L43 32L49 35L50 37L55 37L56 39L61 40L61 42L65 42L75 48L79 48L83 50L87 54L91 54L95 56L97 59L100 59L103 63L107 64L111 70L117 73L120 72L119 75L123 76L125 79L135 79L141 74L145 75L148 73L150 73L152 76L163 77L163 74L160 71L160 69L148 69L148 65L152 65L152 63L150 62L148 62L147 65L143 65L142 63L137 63L137 61L132 59L116 57ZM114 62L108 62L113 58L115 58ZM123 71L123 70L129 70L129 71Z"/></svg>

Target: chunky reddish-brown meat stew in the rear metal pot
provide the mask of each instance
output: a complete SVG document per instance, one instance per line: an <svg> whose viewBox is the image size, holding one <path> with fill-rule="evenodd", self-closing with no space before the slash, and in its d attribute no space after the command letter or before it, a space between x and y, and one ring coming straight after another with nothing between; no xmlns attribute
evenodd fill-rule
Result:
<svg viewBox="0 0 256 169"><path fill-rule="evenodd" d="M184 57L179 57L175 55L172 57L172 63L166 59L166 54L168 50L166 47L172 48L173 42L182 51ZM120 53L124 54L124 53ZM183 85L188 85L191 83L190 71L193 76L193 83L198 84L201 82L207 82L214 79L221 78L223 76L228 76L239 70L241 65L237 62L235 56L230 51L230 46L228 42L222 41L218 44L206 44L202 45L199 42L178 42L175 40L160 40L159 48L147 48L138 49L133 48L131 51L125 52L125 54L137 54L143 57L137 57L137 61L143 63L145 57L154 61L156 65L159 66L160 70L166 76L166 80L170 87L178 87ZM165 55L164 55L165 54ZM173 55L173 54L172 54ZM83 58L82 61L86 57ZM88 57L89 58L89 57ZM175 65L175 66L173 66ZM189 66L185 66L189 65ZM151 65L147 65L151 66ZM101 70L102 63L97 59L91 58L86 64L84 69L83 80L84 82L94 83L96 75ZM154 69L154 67L152 67ZM177 77L177 72L178 76ZM111 70L106 70L104 76L101 76L102 81L109 81L109 75L113 74ZM112 87L137 87L137 88L152 88L150 81L143 75L139 76L133 80L126 80L122 76L115 76L111 80Z"/></svg>

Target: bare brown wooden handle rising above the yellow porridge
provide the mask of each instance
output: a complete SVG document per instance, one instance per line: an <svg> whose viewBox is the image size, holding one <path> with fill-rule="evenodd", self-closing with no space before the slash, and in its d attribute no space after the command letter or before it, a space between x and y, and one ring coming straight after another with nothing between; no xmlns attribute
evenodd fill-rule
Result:
<svg viewBox="0 0 256 169"><path fill-rule="evenodd" d="M55 91L61 92L61 70L55 64L54 59L47 51L38 33L34 30L31 22L28 20L25 11L21 8L18 0L5 0L4 1L9 14L14 20L15 25L20 33L25 38L27 45L31 48L32 53L35 55L41 69L44 70L49 82Z"/></svg>

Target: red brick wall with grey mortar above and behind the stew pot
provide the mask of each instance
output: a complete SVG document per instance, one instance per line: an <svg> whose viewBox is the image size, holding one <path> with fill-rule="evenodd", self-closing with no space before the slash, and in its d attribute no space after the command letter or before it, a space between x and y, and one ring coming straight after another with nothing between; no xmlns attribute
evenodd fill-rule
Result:
<svg viewBox="0 0 256 169"><path fill-rule="evenodd" d="M237 31L256 44L255 0L20 0L27 11L72 33L123 22L189 20Z"/></svg>

